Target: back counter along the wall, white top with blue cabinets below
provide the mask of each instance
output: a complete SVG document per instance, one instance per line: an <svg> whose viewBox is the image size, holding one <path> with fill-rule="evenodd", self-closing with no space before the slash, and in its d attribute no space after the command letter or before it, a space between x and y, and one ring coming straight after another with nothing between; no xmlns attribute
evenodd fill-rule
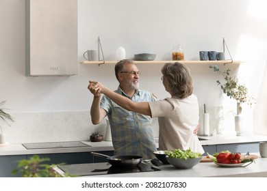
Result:
<svg viewBox="0 0 267 191"><path fill-rule="evenodd" d="M259 152L259 142L267 141L267 136L203 136L201 145L205 152L214 153L217 151L229 150L232 152L251 153ZM157 138L155 138L157 142ZM27 160L32 155L39 155L40 158L50 158L49 164L84 164L105 162L105 158L92 156L91 151L114 155L112 141L90 142L80 141L88 147L57 147L49 149L26 149L22 144L5 144L0 147L0 164L2 166L0 177L14 177L10 172L16 168L19 160ZM205 153L206 154L206 153ZM204 155L205 155L204 154ZM205 164L206 165L206 164ZM139 174L139 173L138 173Z"/></svg>

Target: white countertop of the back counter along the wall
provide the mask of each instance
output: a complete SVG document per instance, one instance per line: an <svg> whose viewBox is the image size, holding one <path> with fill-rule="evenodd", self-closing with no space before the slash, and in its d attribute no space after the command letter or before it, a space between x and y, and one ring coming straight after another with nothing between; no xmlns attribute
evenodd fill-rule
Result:
<svg viewBox="0 0 267 191"><path fill-rule="evenodd" d="M199 136L208 139L201 141L202 145L219 145L232 143L253 143L259 141L267 141L267 136L251 135L251 136ZM75 153L75 152L90 152L90 151L113 151L112 141L90 142L81 141L91 147L69 147L55 149L26 149L21 144L5 144L0 145L0 156L24 155L24 154L41 154L41 153Z"/></svg>

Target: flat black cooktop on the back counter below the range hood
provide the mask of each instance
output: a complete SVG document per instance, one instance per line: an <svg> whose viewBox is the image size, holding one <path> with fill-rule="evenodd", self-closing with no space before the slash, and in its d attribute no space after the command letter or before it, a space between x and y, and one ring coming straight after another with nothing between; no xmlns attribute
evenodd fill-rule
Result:
<svg viewBox="0 0 267 191"><path fill-rule="evenodd" d="M54 148L68 148L68 147L91 147L81 143L80 141L66 141L66 142L48 142L48 143L23 143L26 149L54 149Z"/></svg>

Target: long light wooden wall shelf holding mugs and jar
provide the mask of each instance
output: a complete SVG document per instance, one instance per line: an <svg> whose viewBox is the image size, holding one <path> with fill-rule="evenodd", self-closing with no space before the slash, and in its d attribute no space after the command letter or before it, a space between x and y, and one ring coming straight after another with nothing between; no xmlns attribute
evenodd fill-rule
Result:
<svg viewBox="0 0 267 191"><path fill-rule="evenodd" d="M115 64L118 61L105 61L105 63L103 63L103 61L81 61L81 64ZM164 63L168 63L168 62L175 62L175 61L133 61L133 63L135 64L154 64L154 63L160 63L160 64L164 64ZM231 64L240 64L241 61L232 61L232 60L223 60L223 61L179 61L180 63L184 63L184 64L227 64L227 63L231 63Z"/></svg>

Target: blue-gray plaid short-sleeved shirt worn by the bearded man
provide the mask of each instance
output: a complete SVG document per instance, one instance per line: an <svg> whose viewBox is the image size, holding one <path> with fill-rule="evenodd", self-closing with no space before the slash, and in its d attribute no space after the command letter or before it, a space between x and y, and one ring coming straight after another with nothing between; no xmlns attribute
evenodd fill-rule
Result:
<svg viewBox="0 0 267 191"><path fill-rule="evenodd" d="M129 98L120 87L115 92ZM131 100L133 102L153 102L157 99L148 91L137 89ZM105 95L103 95L100 106L107 111L116 156L135 155L142 156L143 159L155 158L153 151L157 151L157 148L153 138L151 117L127 111Z"/></svg>

